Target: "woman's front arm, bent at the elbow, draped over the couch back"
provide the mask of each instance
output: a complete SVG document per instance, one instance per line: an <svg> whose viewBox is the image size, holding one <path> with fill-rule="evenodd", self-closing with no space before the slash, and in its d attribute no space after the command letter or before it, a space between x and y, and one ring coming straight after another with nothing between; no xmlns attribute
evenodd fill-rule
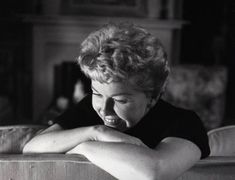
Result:
<svg viewBox="0 0 235 180"><path fill-rule="evenodd" d="M175 179L193 166L200 149L181 138L166 138L156 149L126 142L89 141L69 151L83 154L118 179Z"/></svg>

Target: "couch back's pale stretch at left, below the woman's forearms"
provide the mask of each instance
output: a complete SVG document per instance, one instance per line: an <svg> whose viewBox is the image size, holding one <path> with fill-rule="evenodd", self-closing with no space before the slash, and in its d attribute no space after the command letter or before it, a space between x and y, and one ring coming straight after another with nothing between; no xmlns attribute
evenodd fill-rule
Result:
<svg viewBox="0 0 235 180"><path fill-rule="evenodd" d="M80 155L0 154L1 180L114 180Z"/></svg>

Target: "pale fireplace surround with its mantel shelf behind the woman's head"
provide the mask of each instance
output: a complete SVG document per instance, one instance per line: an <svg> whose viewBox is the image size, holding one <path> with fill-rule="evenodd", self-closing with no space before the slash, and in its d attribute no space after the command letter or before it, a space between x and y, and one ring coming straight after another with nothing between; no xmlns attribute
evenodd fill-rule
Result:
<svg viewBox="0 0 235 180"><path fill-rule="evenodd" d="M185 22L151 18L117 18L86 16L25 16L32 24L33 121L51 103L53 67L62 61L73 61L81 41L107 22L129 21L148 29L165 46L170 63L179 61L180 30Z"/></svg>

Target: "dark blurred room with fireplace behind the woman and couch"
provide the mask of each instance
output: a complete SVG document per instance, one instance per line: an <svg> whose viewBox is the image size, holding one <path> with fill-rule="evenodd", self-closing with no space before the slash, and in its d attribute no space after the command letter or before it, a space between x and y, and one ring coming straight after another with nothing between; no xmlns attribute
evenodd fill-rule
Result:
<svg viewBox="0 0 235 180"><path fill-rule="evenodd" d="M51 124L89 93L75 64L79 44L109 21L134 22L162 41L174 75L166 99L193 101L208 129L235 124L235 1L8 0L0 5L0 125Z"/></svg>

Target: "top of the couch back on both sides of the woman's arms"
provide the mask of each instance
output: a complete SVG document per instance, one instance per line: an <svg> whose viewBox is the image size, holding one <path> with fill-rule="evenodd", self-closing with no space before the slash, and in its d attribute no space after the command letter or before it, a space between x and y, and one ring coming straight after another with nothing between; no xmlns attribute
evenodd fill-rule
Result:
<svg viewBox="0 0 235 180"><path fill-rule="evenodd" d="M199 161L178 180L234 180L235 157ZM80 155L0 155L1 180L114 180Z"/></svg>

